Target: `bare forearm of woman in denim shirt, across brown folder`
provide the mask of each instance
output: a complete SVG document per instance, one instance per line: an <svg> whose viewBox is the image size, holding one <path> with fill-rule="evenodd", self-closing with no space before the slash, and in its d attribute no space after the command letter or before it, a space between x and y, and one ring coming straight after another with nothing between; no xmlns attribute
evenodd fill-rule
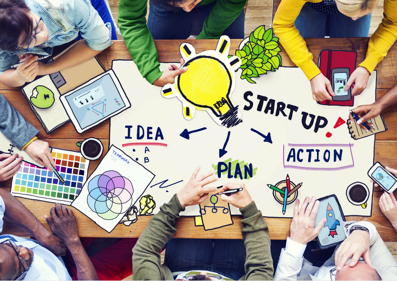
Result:
<svg viewBox="0 0 397 281"><path fill-rule="evenodd" d="M40 75L55 73L67 68L81 64L92 59L102 51L91 50L86 44L85 39L78 41L65 54L52 63L45 64L44 70L40 70Z"/></svg>

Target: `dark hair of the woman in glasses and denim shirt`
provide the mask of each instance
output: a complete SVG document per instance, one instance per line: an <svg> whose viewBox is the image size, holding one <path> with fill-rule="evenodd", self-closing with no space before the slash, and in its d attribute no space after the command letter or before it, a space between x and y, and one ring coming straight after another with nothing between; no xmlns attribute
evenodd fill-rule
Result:
<svg viewBox="0 0 397 281"><path fill-rule="evenodd" d="M24 0L0 0L0 50L16 51L21 35L28 44L33 31L30 11Z"/></svg>

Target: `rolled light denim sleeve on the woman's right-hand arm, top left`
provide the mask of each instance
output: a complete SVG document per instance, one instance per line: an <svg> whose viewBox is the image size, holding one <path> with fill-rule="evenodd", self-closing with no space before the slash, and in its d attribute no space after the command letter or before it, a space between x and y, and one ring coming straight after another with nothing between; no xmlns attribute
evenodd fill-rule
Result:
<svg viewBox="0 0 397 281"><path fill-rule="evenodd" d="M81 32L91 50L102 51L112 45L112 27L102 18L89 0L64 0L66 17Z"/></svg>

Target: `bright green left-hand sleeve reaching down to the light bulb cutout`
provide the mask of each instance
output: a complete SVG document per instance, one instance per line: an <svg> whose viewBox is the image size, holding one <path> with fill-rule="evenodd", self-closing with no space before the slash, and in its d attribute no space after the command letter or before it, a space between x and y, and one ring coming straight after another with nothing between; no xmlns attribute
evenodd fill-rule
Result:
<svg viewBox="0 0 397 281"><path fill-rule="evenodd" d="M146 25L147 0L119 1L119 28L132 60L150 83L162 74L153 37Z"/></svg>

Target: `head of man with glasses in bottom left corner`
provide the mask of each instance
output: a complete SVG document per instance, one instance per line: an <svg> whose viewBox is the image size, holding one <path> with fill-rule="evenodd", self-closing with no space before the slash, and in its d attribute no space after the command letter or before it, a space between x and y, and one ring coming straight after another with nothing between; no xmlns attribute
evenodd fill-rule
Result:
<svg viewBox="0 0 397 281"><path fill-rule="evenodd" d="M19 257L25 262L20 260ZM16 278L29 270L32 261L33 251L31 249L17 246L10 242L1 243L0 280L16 280Z"/></svg>

